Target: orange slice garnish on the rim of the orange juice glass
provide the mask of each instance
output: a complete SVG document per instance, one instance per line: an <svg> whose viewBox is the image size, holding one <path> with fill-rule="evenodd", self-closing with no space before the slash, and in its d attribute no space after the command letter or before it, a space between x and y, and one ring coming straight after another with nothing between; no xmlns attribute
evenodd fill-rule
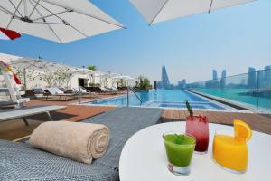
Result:
<svg viewBox="0 0 271 181"><path fill-rule="evenodd" d="M246 122L243 120L234 119L233 120L234 126L234 138L238 141L246 141L248 142L252 136L252 130L248 126Z"/></svg>

